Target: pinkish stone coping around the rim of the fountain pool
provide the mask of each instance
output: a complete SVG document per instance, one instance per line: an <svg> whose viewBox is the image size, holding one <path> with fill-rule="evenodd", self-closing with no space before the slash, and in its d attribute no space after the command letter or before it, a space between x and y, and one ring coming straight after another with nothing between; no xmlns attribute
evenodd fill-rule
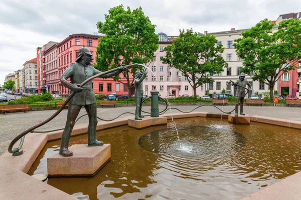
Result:
<svg viewBox="0 0 301 200"><path fill-rule="evenodd" d="M213 112L174 113L163 114L162 116L167 117L167 119L189 117L228 118L228 114ZM251 121L255 122L301 129L301 122L295 120L259 115L250 115L250 117ZM104 130L121 125L127 125L128 118L129 117L123 117L115 119L113 121L98 123L97 130ZM87 126L87 124L75 125L71 136L85 134L87 132ZM47 141L60 139L61 134L62 130L47 133L29 133L25 137L24 145L22 148L24 150L24 154L20 156L12 156L11 153L6 152L2 156L0 156L0 167L2 168L2 170L0 171L0 176L2 177L1 182L3 183L3 185L0 184L1 199L7 199L8 197L10 197L10 199L20 199L21 196L23 199L32 199L34 195L37 195L37 193L43 193L46 199L53 199L53 197L57 195L62 199L77 199L49 184L36 180L35 178L26 174L30 170L30 167L37 159L39 153L42 151ZM15 144L15 146L17 147L18 143ZM18 176L16 176L16 178L12 178L12 174L18 174ZM22 184L20 184L20 181L23 181ZM26 184L24 184L25 182ZM243 199L288 199L287 197L289 197L289 199L301 199L300 183L301 172L297 172ZM29 189L26 186L27 184L35 185L35 187ZM44 189L41 190L41 188ZM283 192L283 190L285 192Z"/></svg>

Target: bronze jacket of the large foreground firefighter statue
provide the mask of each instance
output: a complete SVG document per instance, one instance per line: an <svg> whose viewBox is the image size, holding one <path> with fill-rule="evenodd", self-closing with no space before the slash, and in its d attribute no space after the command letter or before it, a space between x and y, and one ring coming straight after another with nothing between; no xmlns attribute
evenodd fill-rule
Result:
<svg viewBox="0 0 301 200"><path fill-rule="evenodd" d="M71 83L80 84L87 78L96 75L98 73L101 73L101 71L95 69L92 65L83 65L81 63L75 62L70 64L68 68L64 71L64 73L61 76L61 83L64 86L68 87L69 89L72 89ZM120 71L117 70L102 75L101 77L102 78L111 77L119 73ZM70 78L71 83L67 80L68 78ZM89 105L89 104L96 103L95 94L92 88L92 80L90 80L85 85L83 85L82 88L83 91L75 93L75 95L69 101L69 104Z"/></svg>

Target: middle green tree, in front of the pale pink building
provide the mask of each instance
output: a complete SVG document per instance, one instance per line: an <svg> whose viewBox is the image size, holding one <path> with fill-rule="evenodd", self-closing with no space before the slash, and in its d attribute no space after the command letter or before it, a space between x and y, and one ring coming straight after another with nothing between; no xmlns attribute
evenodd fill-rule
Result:
<svg viewBox="0 0 301 200"><path fill-rule="evenodd" d="M164 63L175 67L188 78L189 84L197 96L197 87L204 83L214 82L209 73L220 73L228 63L218 53L224 51L220 44L216 46L217 39L213 35L201 35L193 32L192 28L186 32L180 30L180 36L168 45Z"/></svg>

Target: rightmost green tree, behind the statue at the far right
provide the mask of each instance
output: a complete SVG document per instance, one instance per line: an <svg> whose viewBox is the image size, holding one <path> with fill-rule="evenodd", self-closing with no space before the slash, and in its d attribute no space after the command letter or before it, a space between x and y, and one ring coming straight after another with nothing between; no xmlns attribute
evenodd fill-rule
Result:
<svg viewBox="0 0 301 200"><path fill-rule="evenodd" d="M233 44L237 56L243 59L241 72L267 84L270 99L276 81L295 69L296 60L301 58L301 21L291 18L281 21L277 29L274 26L268 19L261 20Z"/></svg>

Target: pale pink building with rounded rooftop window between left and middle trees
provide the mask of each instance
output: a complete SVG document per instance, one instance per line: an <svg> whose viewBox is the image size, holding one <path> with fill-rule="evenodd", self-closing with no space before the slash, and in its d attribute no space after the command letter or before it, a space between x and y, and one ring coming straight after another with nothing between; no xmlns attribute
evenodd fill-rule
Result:
<svg viewBox="0 0 301 200"><path fill-rule="evenodd" d="M159 49L154 54L154 60L148 63L148 67L155 73L147 72L147 77L143 81L143 91L147 96L150 95L150 91L156 85L156 89L160 92L161 96L167 96L169 94L175 94L176 97L188 94L194 95L194 90L189 84L188 79L185 78L181 72L168 64L164 64L161 60L166 56L164 48L167 45L172 44L173 39L178 36L168 36L167 34L160 32L159 36ZM197 88L197 95L205 95L204 85Z"/></svg>

